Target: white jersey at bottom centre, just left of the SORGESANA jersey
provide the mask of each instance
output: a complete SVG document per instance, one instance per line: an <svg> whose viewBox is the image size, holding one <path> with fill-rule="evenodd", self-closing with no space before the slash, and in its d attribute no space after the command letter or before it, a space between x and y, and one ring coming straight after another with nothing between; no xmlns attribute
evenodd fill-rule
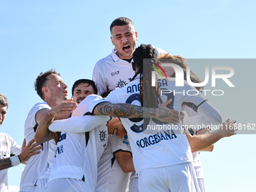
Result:
<svg viewBox="0 0 256 192"><path fill-rule="evenodd" d="M98 163L96 192L126 191L129 173L124 173L117 163L114 157L117 151L132 153L128 137L119 139L118 136L108 135L108 145Z"/></svg>

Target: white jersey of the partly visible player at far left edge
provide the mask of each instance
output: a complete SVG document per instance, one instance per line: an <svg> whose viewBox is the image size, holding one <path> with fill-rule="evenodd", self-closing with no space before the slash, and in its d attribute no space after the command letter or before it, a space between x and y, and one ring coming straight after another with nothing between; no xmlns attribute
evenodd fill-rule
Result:
<svg viewBox="0 0 256 192"><path fill-rule="evenodd" d="M20 154L21 147L6 133L0 133L0 160ZM0 171L0 192L8 191L8 169Z"/></svg>

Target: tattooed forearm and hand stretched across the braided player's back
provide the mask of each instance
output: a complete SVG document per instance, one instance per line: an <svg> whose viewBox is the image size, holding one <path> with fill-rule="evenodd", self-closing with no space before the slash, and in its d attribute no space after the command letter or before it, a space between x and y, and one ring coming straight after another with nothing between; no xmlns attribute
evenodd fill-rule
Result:
<svg viewBox="0 0 256 192"><path fill-rule="evenodd" d="M99 103L99 105L96 105L93 114L123 118L150 117L163 122L177 124L179 123L178 111L166 107L166 105L169 105L171 102L172 99L167 102L163 102L159 108L145 108L126 103L102 102Z"/></svg>

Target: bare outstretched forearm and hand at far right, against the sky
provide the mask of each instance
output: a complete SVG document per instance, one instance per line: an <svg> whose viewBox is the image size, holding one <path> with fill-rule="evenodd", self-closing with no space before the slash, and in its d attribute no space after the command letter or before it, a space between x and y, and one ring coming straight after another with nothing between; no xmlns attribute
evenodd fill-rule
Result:
<svg viewBox="0 0 256 192"><path fill-rule="evenodd" d="M204 134L200 136L191 136L190 133L188 133L188 131L186 130L186 136L188 142L190 143L191 151L201 151L202 149L209 147L210 145L218 142L218 140L224 137L236 135L236 120L232 120L229 123L227 122L228 121L222 123L222 126L219 130L216 130L210 134Z"/></svg>

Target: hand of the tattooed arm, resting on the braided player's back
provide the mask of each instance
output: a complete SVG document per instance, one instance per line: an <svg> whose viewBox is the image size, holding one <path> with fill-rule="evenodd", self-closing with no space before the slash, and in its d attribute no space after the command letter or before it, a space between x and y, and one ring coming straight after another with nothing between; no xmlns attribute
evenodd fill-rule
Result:
<svg viewBox="0 0 256 192"><path fill-rule="evenodd" d="M158 120L161 120L162 122L166 123L172 123L172 124L178 124L179 123L179 117L178 117L178 111L175 111L171 108L167 108L167 105L172 103L172 99L169 99L166 102L163 102L159 106L159 115L156 117Z"/></svg>

